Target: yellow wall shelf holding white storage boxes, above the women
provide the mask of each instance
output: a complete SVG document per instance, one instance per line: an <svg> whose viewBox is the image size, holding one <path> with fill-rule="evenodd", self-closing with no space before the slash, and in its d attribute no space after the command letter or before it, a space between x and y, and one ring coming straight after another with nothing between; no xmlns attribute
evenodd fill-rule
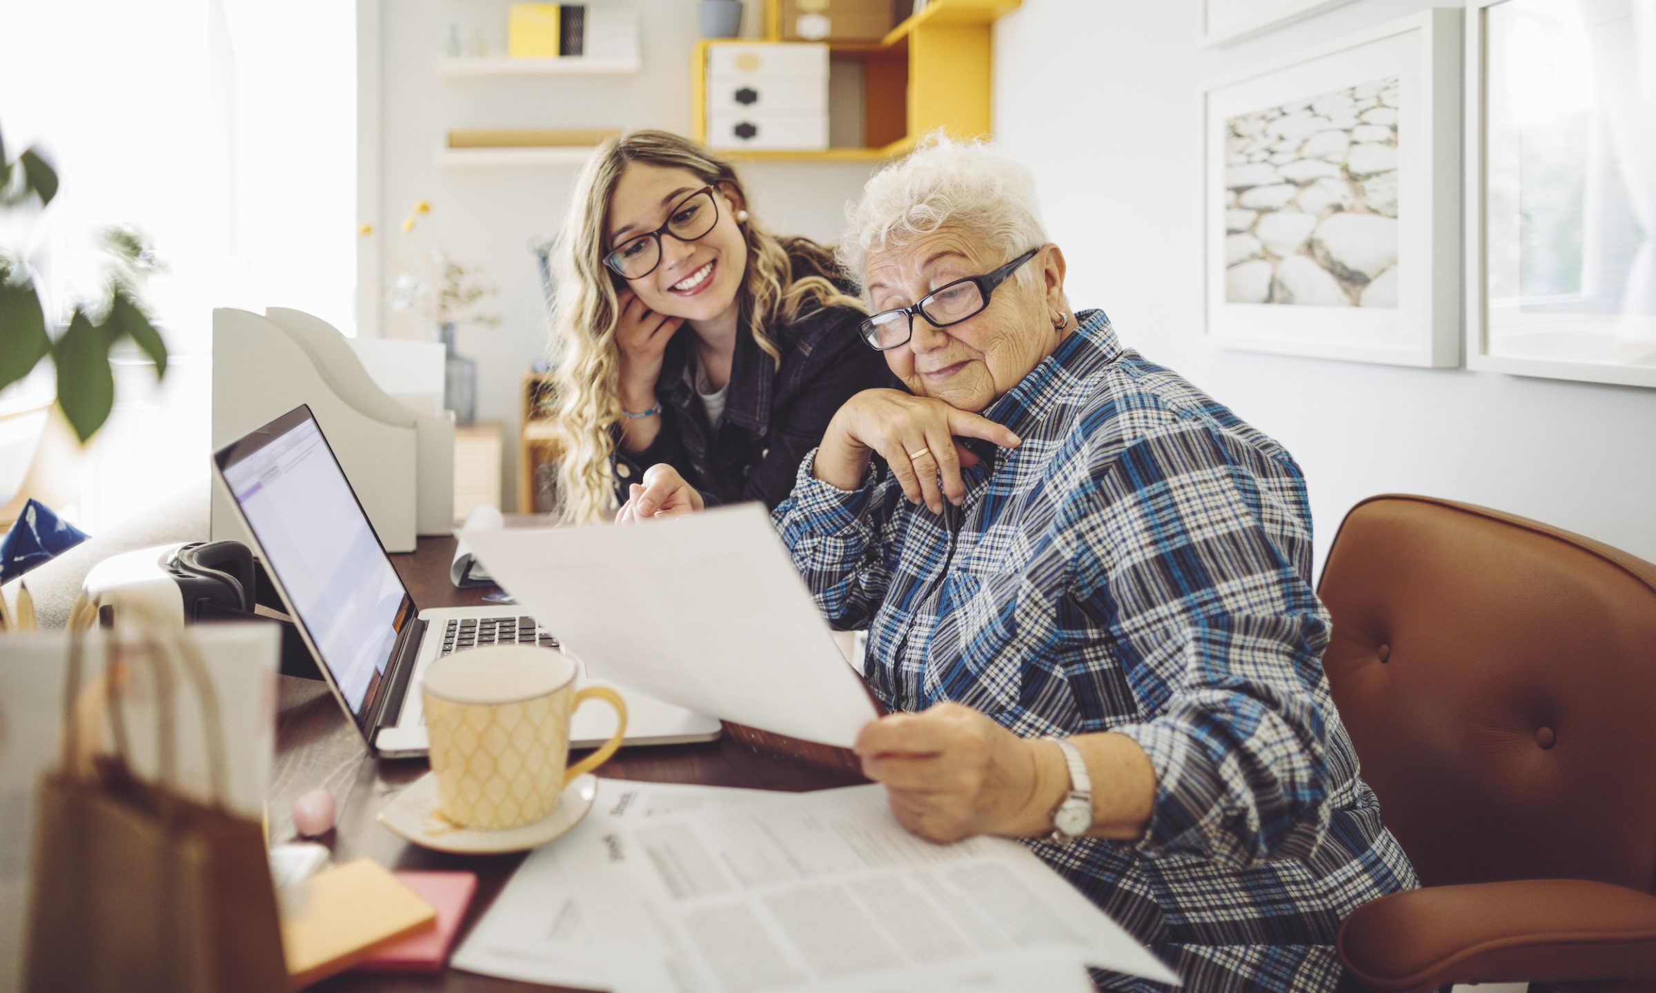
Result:
<svg viewBox="0 0 1656 993"><path fill-rule="evenodd" d="M863 147L823 151L722 149L734 159L876 162L901 156L931 131L992 134L992 26L1022 0L931 0L874 41L828 41L838 58L863 63ZM691 127L707 141L707 51L714 45L780 41L782 0L765 0L765 38L697 41L691 60Z"/></svg>

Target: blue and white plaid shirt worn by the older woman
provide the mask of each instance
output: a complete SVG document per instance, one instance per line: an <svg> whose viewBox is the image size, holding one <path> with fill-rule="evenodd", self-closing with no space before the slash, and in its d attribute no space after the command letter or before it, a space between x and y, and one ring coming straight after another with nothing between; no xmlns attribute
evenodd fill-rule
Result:
<svg viewBox="0 0 1656 993"><path fill-rule="evenodd" d="M828 621L868 627L888 707L1144 748L1143 839L1028 844L1187 990L1330 990L1340 920L1418 880L1328 695L1305 480L1103 311L1080 319L984 410L1023 444L977 449L960 508L889 473L838 490L811 452L777 526Z"/></svg>

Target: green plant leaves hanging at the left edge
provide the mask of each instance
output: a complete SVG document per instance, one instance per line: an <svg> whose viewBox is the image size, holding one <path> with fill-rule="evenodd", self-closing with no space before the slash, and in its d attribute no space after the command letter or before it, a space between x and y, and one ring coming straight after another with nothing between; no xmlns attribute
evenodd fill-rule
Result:
<svg viewBox="0 0 1656 993"><path fill-rule="evenodd" d="M0 142L0 209L45 212L56 195L58 174L38 147L10 159ZM156 362L157 379L167 371L167 346L144 306L144 285L166 266L132 227L104 228L103 247L108 268L99 300L76 303L66 324L60 323L60 313L41 305L31 260L0 250L0 391L51 356L58 407L81 442L103 427L114 407L109 349L123 338Z"/></svg>

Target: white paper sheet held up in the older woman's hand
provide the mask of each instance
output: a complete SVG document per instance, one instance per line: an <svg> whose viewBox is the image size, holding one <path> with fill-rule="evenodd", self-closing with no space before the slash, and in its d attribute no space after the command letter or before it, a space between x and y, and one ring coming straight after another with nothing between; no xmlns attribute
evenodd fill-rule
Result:
<svg viewBox="0 0 1656 993"><path fill-rule="evenodd" d="M459 540L595 677L845 748L874 720L760 505Z"/></svg>

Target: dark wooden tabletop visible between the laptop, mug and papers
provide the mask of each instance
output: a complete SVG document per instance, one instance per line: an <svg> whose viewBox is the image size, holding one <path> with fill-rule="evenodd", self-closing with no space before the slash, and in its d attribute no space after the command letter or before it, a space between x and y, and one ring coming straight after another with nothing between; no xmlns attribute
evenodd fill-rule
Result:
<svg viewBox="0 0 1656 993"><path fill-rule="evenodd" d="M394 554L402 583L424 607L479 606L487 588L455 589L449 583L454 538L421 538L409 554ZM424 760L368 756L363 738L344 718L328 687L280 677L277 712L277 763L270 783L270 839L293 841L293 799L316 786L333 791L338 828L318 839L335 861L368 856L389 869L467 869L479 875L479 894L460 938L470 930L525 856L450 856L409 844L381 828L374 816L402 786L426 775ZM598 771L616 780L705 783L762 789L825 789L868 780L848 751L725 725L717 741L623 748ZM553 842L556 844L556 842ZM546 990L477 976L457 970L421 976L412 973L343 973L315 990Z"/></svg>

